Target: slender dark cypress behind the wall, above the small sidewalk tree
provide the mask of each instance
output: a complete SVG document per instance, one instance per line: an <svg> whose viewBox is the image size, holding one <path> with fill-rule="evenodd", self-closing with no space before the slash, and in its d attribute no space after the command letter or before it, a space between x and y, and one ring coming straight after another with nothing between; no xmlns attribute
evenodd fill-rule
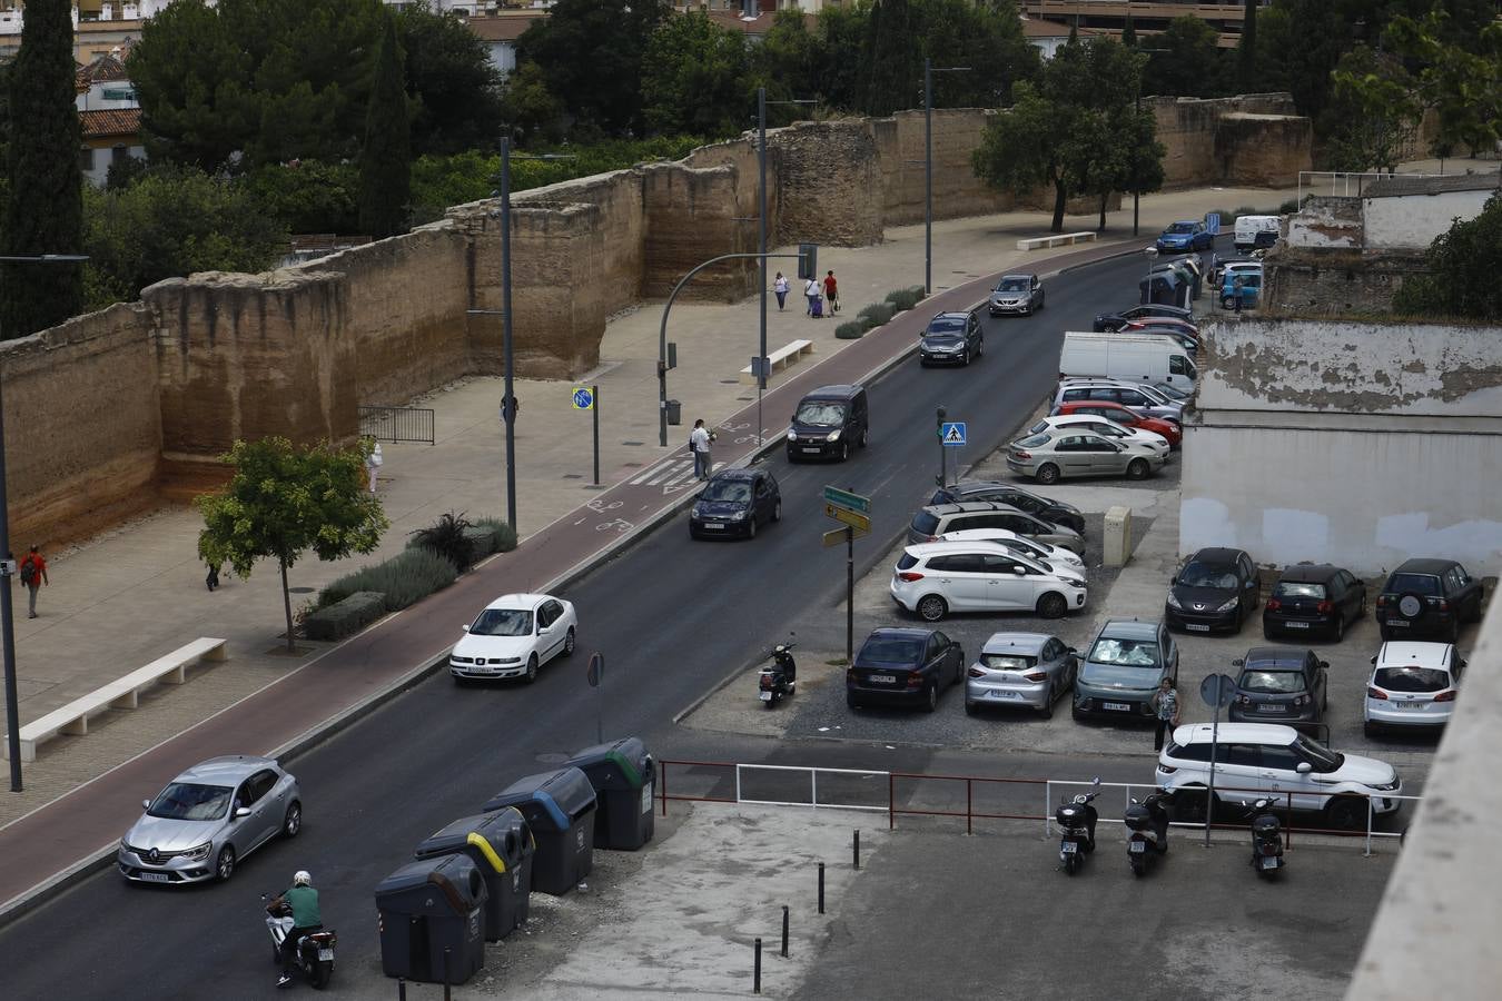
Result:
<svg viewBox="0 0 1502 1001"><path fill-rule="evenodd" d="M377 240L407 228L412 200L412 122L403 63L397 21L386 15L360 149L360 228Z"/></svg>

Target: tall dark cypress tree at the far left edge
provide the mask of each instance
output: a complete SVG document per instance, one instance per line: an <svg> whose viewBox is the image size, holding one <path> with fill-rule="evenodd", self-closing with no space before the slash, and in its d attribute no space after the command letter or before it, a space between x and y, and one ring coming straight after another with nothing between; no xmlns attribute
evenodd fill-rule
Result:
<svg viewBox="0 0 1502 1001"><path fill-rule="evenodd" d="M29 0L11 66L8 255L78 254L83 246L83 144L74 108L69 0ZM24 338L83 309L78 264L0 264L0 338Z"/></svg>

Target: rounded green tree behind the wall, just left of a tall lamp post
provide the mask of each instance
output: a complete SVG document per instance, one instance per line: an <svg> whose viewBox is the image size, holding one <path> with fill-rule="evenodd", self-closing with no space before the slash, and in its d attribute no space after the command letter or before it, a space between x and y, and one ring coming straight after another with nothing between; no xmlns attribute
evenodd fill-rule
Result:
<svg viewBox="0 0 1502 1001"><path fill-rule="evenodd" d="M652 134L739 135L756 125L745 35L703 12L670 17L641 59L641 104Z"/></svg>

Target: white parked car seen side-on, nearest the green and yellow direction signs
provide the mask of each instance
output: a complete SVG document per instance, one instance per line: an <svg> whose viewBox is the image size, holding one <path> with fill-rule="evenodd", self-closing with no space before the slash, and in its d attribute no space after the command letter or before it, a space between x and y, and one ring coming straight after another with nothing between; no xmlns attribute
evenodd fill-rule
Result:
<svg viewBox="0 0 1502 1001"><path fill-rule="evenodd" d="M903 549L892 600L925 621L949 612L1036 612L1060 618L1084 608L1084 570L1051 566L997 542L925 542Z"/></svg>

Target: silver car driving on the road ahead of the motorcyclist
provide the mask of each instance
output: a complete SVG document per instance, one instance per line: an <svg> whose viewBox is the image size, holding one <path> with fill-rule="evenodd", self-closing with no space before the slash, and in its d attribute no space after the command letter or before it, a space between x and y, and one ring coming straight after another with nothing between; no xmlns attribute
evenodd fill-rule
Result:
<svg viewBox="0 0 1502 1001"><path fill-rule="evenodd" d="M132 882L224 882L252 851L302 830L297 779L251 755L195 764L141 807L116 851L116 867Z"/></svg>

